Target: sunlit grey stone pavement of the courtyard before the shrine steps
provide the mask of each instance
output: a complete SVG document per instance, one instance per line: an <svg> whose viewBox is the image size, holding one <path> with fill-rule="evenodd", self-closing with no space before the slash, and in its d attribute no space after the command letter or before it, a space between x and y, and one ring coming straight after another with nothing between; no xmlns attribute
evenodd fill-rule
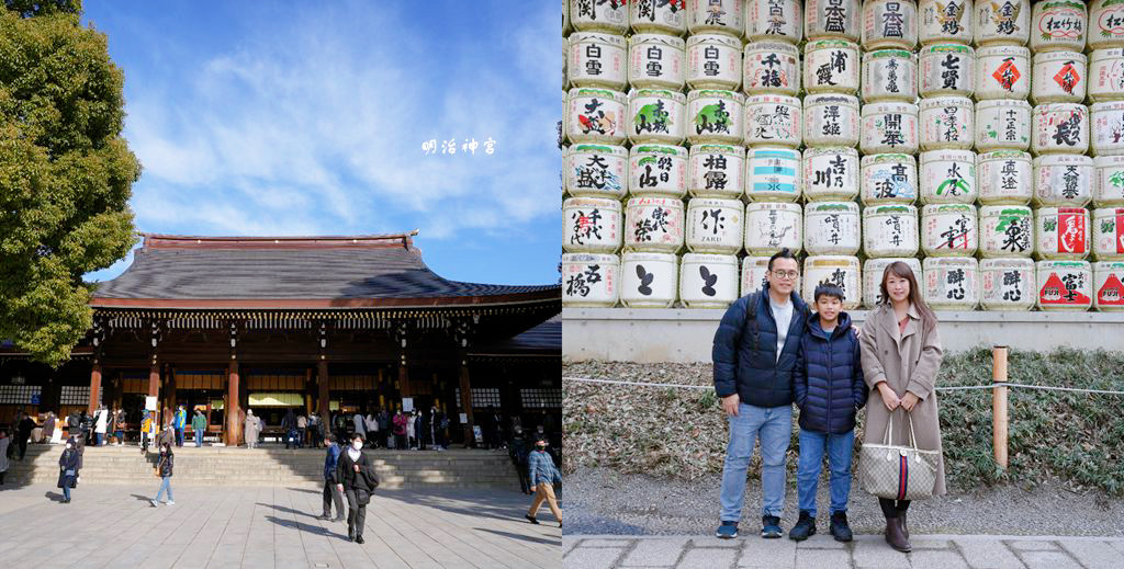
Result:
<svg viewBox="0 0 1124 569"><path fill-rule="evenodd" d="M175 487L152 507L144 488L0 486L0 566L175 568L537 568L561 566L562 530L549 511L523 518L529 496L496 489L380 490L365 543L321 522L315 487ZM344 502L346 507L346 501ZM545 510L545 508L544 508Z"/></svg>

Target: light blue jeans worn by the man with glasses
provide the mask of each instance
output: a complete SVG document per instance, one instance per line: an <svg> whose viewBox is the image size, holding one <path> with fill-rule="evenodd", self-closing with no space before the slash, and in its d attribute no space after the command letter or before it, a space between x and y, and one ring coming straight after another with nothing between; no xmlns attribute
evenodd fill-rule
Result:
<svg viewBox="0 0 1124 569"><path fill-rule="evenodd" d="M745 502L745 471L753 444L761 439L762 515L785 512L785 453L792 437L792 406L755 407L740 404L729 420L729 443L722 469L722 521L738 522Z"/></svg>

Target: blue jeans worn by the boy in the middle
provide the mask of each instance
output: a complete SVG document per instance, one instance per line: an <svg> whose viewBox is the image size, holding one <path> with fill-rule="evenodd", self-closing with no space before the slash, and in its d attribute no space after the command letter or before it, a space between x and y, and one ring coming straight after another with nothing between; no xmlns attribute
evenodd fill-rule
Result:
<svg viewBox="0 0 1124 569"><path fill-rule="evenodd" d="M796 466L796 490L800 510L816 517L816 488L819 470L824 465L824 450L832 479L832 513L846 512L851 495L851 453L854 449L854 430L842 434L800 431L800 458Z"/></svg>

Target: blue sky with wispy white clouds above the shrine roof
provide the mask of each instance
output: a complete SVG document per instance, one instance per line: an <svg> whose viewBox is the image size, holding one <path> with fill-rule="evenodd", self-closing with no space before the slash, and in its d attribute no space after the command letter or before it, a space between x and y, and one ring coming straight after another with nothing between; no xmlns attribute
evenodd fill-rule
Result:
<svg viewBox="0 0 1124 569"><path fill-rule="evenodd" d="M125 138L144 167L130 202L139 231L419 229L415 242L446 278L558 281L559 2L87 0L84 9L125 72ZM423 152L451 138L454 155ZM480 146L465 154L471 138Z"/></svg>

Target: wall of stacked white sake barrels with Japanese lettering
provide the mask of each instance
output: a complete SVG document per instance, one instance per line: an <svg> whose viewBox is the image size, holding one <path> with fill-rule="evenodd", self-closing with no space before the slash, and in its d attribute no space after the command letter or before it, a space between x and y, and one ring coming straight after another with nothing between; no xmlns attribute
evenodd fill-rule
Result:
<svg viewBox="0 0 1124 569"><path fill-rule="evenodd" d="M895 260L937 310L1124 310L1124 2L564 9L565 306L724 308L787 247L851 310Z"/></svg>

